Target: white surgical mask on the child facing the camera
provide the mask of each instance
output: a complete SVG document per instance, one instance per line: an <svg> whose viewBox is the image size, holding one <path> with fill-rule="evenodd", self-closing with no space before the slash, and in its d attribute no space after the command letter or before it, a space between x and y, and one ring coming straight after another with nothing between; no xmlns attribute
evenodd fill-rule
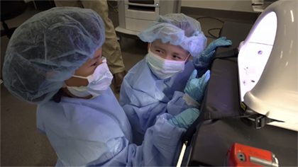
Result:
<svg viewBox="0 0 298 167"><path fill-rule="evenodd" d="M189 54L187 58L188 57ZM145 60L153 74L158 76L160 79L167 79L182 72L184 70L185 61L187 61L187 59L185 59L185 61L163 59L162 57L159 57L158 55L151 52L150 49L148 50Z"/></svg>

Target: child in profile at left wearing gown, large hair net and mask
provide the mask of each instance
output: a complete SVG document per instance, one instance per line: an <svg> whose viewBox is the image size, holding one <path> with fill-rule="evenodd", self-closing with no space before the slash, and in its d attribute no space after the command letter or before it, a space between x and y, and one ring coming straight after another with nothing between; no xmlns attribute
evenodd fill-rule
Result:
<svg viewBox="0 0 298 167"><path fill-rule="evenodd" d="M175 166L197 111L158 115L143 144L133 144L131 124L109 88L104 40L104 22L90 9L40 12L9 40L4 85L38 105L36 125L55 149L56 166Z"/></svg>

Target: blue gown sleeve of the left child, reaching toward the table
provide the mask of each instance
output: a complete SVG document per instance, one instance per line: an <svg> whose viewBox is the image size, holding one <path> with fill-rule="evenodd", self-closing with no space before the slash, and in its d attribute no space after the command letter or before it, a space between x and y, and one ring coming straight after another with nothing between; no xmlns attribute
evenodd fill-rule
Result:
<svg viewBox="0 0 298 167"><path fill-rule="evenodd" d="M172 116L160 115L153 127L145 132L141 146L129 144L104 166L175 166L182 149L185 129L170 125Z"/></svg>

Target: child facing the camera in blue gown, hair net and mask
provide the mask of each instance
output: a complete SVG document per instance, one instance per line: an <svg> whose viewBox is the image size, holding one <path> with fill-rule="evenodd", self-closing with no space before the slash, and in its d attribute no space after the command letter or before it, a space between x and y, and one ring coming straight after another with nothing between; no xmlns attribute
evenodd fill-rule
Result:
<svg viewBox="0 0 298 167"><path fill-rule="evenodd" d="M131 122L133 142L142 144L157 115L178 115L187 109L199 114L210 74L206 70L198 77L190 60L199 58L207 41L194 18L182 13L158 16L138 37L148 42L148 54L124 78L120 104ZM214 49L203 53L210 58Z"/></svg>

